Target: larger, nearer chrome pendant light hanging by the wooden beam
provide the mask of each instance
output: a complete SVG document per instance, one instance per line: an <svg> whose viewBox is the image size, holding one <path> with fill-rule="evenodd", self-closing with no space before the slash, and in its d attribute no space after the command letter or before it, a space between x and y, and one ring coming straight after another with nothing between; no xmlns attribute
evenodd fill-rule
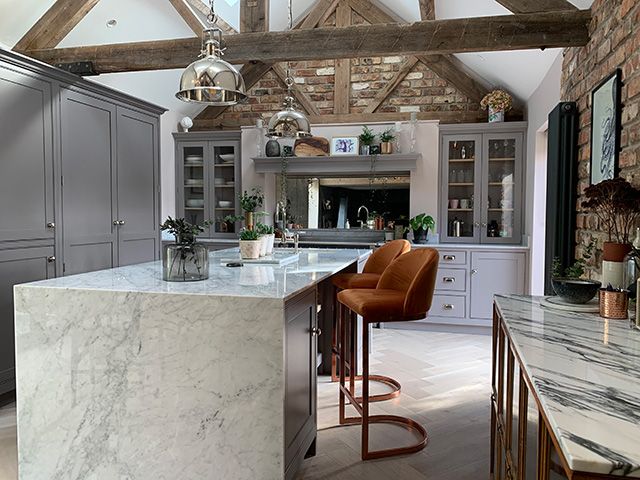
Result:
<svg viewBox="0 0 640 480"><path fill-rule="evenodd" d="M199 60L189 65L180 78L180 91L176 97L183 102L204 103L227 107L244 102L247 98L244 79L229 62L222 60L222 30L215 26L218 17L214 0L209 0L211 12L207 15L208 28L202 37Z"/></svg>

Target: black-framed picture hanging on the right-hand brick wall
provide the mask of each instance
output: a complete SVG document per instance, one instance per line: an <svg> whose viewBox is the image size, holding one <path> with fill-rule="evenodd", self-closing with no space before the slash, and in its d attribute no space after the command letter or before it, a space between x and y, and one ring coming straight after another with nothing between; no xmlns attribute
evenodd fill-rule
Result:
<svg viewBox="0 0 640 480"><path fill-rule="evenodd" d="M617 69L591 92L591 183L616 176L620 152L621 71Z"/></svg>

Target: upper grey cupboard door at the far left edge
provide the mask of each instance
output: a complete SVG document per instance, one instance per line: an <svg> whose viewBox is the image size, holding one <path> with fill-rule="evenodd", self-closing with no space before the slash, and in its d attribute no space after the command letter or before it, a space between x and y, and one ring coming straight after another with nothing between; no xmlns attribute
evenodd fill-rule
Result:
<svg viewBox="0 0 640 480"><path fill-rule="evenodd" d="M51 83L0 63L0 242L53 242Z"/></svg>

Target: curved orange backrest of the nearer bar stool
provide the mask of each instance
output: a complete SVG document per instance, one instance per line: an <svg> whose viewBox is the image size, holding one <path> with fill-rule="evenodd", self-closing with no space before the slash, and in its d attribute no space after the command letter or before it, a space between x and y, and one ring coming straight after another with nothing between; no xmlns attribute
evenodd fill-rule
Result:
<svg viewBox="0 0 640 480"><path fill-rule="evenodd" d="M438 260L435 248L419 248L401 255L384 271L377 288L404 292L404 316L423 318L433 301Z"/></svg>

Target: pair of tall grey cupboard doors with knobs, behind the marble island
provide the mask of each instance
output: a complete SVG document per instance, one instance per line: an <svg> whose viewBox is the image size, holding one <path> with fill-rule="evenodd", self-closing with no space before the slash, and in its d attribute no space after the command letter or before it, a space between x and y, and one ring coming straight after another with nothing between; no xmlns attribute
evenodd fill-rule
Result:
<svg viewBox="0 0 640 480"><path fill-rule="evenodd" d="M63 89L65 275L159 257L158 121Z"/></svg>

